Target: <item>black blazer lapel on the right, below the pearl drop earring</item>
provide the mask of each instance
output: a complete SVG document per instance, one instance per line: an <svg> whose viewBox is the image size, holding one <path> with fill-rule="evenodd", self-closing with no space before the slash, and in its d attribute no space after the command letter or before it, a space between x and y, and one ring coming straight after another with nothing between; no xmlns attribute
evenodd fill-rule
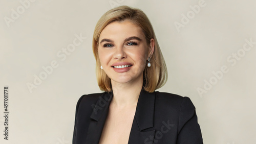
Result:
<svg viewBox="0 0 256 144"><path fill-rule="evenodd" d="M142 88L128 144L153 143L156 130L146 131L146 129L154 127L154 110L155 92L149 93Z"/></svg>

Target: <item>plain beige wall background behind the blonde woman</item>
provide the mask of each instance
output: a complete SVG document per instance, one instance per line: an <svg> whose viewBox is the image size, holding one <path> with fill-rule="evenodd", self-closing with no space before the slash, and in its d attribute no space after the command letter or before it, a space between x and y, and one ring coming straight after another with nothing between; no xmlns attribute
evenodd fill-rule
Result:
<svg viewBox="0 0 256 144"><path fill-rule="evenodd" d="M76 102L82 94L101 92L93 30L104 12L118 5L140 8L150 18L168 68L168 81L158 91L193 101L204 143L255 143L255 1L25 2L0 2L0 85L9 86L10 112L7 141L2 93L0 143L72 143ZM203 7L193 15L189 6L199 4ZM183 27L177 29L175 22ZM86 39L64 59L61 49L72 46L76 35ZM254 42L245 45L247 51L245 39ZM239 60L232 56L236 53ZM27 83L34 84L35 76L45 73L42 66L52 62L58 66L30 92ZM217 79L212 71L223 66L227 73ZM200 95L197 89L204 89L205 81L215 84Z"/></svg>

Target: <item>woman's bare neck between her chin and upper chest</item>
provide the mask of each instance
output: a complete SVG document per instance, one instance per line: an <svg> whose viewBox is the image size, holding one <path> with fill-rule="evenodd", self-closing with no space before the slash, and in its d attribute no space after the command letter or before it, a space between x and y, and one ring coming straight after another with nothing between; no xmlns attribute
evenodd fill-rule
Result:
<svg viewBox="0 0 256 144"><path fill-rule="evenodd" d="M143 85L143 78L133 83L123 84L111 81L111 84L113 90L112 104L119 108L137 105Z"/></svg>

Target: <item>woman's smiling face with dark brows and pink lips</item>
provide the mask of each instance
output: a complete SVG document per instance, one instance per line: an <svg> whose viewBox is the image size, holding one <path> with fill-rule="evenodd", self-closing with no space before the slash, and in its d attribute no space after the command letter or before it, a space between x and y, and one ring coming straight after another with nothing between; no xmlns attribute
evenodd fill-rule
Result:
<svg viewBox="0 0 256 144"><path fill-rule="evenodd" d="M112 83L142 81L146 60L153 51L154 39L148 45L141 29L129 20L110 23L99 36L100 63Z"/></svg>

